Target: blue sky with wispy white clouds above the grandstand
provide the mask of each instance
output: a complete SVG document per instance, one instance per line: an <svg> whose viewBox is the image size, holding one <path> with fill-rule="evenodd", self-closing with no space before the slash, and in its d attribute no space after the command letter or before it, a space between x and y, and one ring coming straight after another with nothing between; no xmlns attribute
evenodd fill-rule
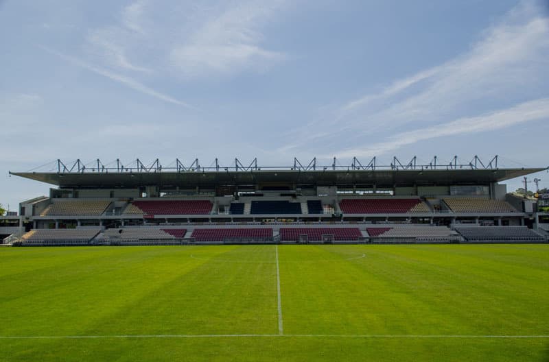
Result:
<svg viewBox="0 0 549 362"><path fill-rule="evenodd" d="M549 0L0 0L0 46L10 210L58 158L549 166Z"/></svg>

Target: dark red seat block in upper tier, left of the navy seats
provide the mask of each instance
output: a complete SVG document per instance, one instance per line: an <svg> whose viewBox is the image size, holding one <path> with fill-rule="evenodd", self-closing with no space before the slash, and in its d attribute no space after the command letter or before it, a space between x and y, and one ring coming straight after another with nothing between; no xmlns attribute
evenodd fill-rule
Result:
<svg viewBox="0 0 549 362"><path fill-rule="evenodd" d="M213 204L208 200L134 201L147 215L207 215Z"/></svg>

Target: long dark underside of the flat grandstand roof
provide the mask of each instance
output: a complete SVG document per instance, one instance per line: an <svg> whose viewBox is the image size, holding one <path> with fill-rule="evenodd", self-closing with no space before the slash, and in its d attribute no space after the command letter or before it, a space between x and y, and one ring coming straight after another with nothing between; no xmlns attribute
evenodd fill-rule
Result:
<svg viewBox="0 0 549 362"><path fill-rule="evenodd" d="M15 176L68 188L135 188L159 186L202 189L216 186L288 184L313 186L376 185L377 187L414 185L490 184L544 171L545 168L520 169L434 169L434 170L251 170L251 171L150 171L150 172L10 172Z"/></svg>

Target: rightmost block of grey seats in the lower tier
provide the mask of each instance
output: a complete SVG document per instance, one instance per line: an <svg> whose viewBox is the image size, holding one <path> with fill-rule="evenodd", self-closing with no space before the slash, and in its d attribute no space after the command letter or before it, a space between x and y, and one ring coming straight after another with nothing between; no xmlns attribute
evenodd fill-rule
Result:
<svg viewBox="0 0 549 362"><path fill-rule="evenodd" d="M544 241L544 237L526 226L459 226L467 241Z"/></svg>

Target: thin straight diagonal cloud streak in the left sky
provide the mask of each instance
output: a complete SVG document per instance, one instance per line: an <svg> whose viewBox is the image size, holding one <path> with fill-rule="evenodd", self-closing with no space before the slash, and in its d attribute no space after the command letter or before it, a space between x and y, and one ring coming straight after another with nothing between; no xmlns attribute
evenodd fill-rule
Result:
<svg viewBox="0 0 549 362"><path fill-rule="evenodd" d="M87 62L84 62L84 60L80 60L78 58L75 58L73 56L69 56L64 53L60 53L59 51L56 51L54 49L50 49L48 47L40 46L41 49L44 49L45 51L54 54L63 60L67 60L67 62L71 62L72 64L77 65L78 67L81 67L83 69L86 69L88 71L91 71L93 73L102 75L104 77L107 77L110 80L113 80L119 84L123 84L124 86L127 86L128 88L131 88L133 90L137 90L140 93L143 93L145 95L150 95L151 97L154 97L156 99L160 99L162 101L166 101L172 104L177 104L178 106L184 106L191 109L196 109L193 106L180 101L178 99L175 99L173 97L170 97L169 95L165 95L164 93L160 93L159 91L156 91L148 86L145 86L144 84L141 84L140 82L137 82L137 80L134 80L131 77L126 77L124 75L120 75L117 73L114 73L112 71L108 71L106 69L102 69L100 67L96 67L92 64L89 64Z"/></svg>

